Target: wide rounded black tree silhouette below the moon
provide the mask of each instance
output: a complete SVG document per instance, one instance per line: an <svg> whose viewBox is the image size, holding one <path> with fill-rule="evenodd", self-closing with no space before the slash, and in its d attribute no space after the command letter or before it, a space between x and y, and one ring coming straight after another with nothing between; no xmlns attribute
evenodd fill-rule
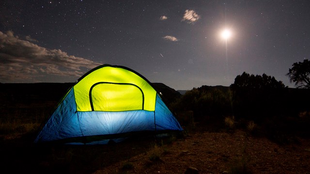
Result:
<svg viewBox="0 0 310 174"><path fill-rule="evenodd" d="M279 111L281 89L285 88L275 77L246 72L237 75L230 87L233 91L234 115L254 120L275 115Z"/></svg>

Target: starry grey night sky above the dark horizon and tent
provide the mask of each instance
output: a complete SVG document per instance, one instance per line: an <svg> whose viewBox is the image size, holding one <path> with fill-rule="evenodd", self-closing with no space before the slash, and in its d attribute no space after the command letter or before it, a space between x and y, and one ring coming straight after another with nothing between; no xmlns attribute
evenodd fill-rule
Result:
<svg viewBox="0 0 310 174"><path fill-rule="evenodd" d="M223 29L232 36L221 37ZM310 59L310 0L1 0L0 83L122 65L174 89L285 74Z"/></svg>

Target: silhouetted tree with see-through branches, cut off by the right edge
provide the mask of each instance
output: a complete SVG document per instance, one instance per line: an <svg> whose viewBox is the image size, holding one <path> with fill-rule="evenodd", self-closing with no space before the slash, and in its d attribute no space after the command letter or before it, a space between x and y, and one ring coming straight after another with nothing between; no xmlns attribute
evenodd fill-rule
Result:
<svg viewBox="0 0 310 174"><path fill-rule="evenodd" d="M295 83L297 88L310 88L310 61L305 59L303 62L296 62L293 68L289 69L290 82Z"/></svg>

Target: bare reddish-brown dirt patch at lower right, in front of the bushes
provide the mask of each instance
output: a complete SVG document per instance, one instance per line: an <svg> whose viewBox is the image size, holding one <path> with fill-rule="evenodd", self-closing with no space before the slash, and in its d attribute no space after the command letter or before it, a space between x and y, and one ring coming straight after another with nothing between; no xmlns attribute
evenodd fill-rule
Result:
<svg viewBox="0 0 310 174"><path fill-rule="evenodd" d="M150 151L154 150L151 147ZM266 138L248 136L244 131L193 132L158 151L159 160L150 160L151 153L146 152L95 174L184 174L188 167L196 168L199 174L310 173L310 141L305 139L299 139L298 145L277 145ZM128 163L130 169L126 169Z"/></svg>

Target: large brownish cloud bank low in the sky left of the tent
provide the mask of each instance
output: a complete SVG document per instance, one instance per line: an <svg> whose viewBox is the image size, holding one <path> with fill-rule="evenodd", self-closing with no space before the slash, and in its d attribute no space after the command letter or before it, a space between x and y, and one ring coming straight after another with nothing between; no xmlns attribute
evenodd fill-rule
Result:
<svg viewBox="0 0 310 174"><path fill-rule="evenodd" d="M31 39L31 37L26 37ZM82 69L101 63L70 56L60 49L47 49L14 36L13 31L0 31L0 82L38 82L48 75L80 77Z"/></svg>

